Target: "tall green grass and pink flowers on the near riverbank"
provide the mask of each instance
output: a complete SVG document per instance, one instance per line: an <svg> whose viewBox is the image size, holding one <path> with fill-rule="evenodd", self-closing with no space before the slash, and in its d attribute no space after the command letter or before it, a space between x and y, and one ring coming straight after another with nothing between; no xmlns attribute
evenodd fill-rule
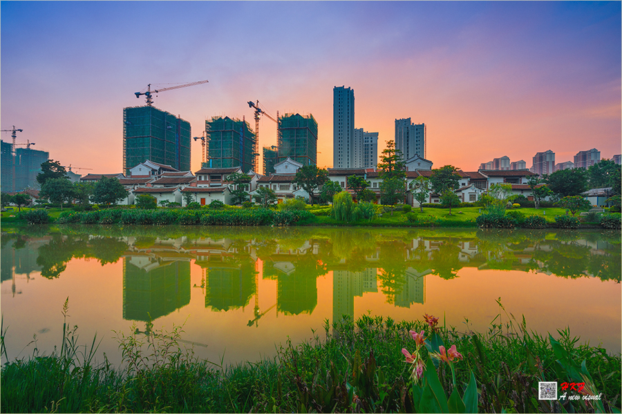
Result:
<svg viewBox="0 0 622 414"><path fill-rule="evenodd" d="M620 412L620 355L579 345L568 330L558 339L529 332L499 306L486 333L469 331L468 321L464 333L437 326L428 315L364 316L327 321L326 339L288 342L274 359L234 366L198 361L177 327L151 332L148 343L117 333L124 364L113 368L94 361L95 338L78 346L65 324L59 351L3 366L1 411ZM578 400L538 400L540 381L583 386L569 391Z"/></svg>

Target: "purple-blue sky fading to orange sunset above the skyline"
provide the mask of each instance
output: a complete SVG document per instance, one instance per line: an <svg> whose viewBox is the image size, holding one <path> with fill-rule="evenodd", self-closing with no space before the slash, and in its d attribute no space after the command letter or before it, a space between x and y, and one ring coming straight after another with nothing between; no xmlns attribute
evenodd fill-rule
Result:
<svg viewBox="0 0 622 414"><path fill-rule="evenodd" d="M272 117L311 114L318 164L331 167L332 89L346 86L355 128L379 132L379 152L395 119L426 124L433 168L504 155L529 168L546 150L556 163L591 148L611 158L622 152L621 5L1 1L0 126L79 174L122 172L123 108L144 105L134 92L207 79L154 106L193 137L214 116L254 128L247 101ZM259 148L275 144L263 117ZM196 171L200 141L191 152Z"/></svg>

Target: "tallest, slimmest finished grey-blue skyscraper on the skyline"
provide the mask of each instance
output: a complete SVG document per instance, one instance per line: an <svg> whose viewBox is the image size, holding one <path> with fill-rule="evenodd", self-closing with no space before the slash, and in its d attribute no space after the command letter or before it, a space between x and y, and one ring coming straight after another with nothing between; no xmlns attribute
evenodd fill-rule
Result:
<svg viewBox="0 0 622 414"><path fill-rule="evenodd" d="M354 90L332 90L332 168L352 168L354 139Z"/></svg>

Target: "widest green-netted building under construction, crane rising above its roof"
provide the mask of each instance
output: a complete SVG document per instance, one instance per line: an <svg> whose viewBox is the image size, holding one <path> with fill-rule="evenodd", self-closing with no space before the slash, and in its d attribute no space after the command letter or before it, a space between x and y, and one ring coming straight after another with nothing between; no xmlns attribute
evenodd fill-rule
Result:
<svg viewBox="0 0 622 414"><path fill-rule="evenodd" d="M123 172L148 159L190 170L190 123L153 106L123 108Z"/></svg>

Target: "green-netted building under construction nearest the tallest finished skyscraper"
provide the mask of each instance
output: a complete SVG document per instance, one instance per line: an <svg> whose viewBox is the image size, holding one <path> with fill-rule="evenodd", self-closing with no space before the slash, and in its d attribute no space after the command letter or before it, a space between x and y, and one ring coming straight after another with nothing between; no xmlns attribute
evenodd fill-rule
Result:
<svg viewBox="0 0 622 414"><path fill-rule="evenodd" d="M289 157L303 166L317 165L317 121L313 115L279 118L278 152L277 163Z"/></svg>

